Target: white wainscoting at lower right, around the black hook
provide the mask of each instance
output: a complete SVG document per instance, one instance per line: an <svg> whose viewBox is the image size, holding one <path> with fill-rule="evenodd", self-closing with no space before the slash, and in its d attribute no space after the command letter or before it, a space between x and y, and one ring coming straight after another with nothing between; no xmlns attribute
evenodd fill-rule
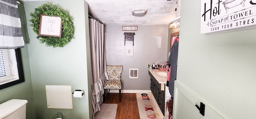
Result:
<svg viewBox="0 0 256 119"><path fill-rule="evenodd" d="M205 104L205 115L202 116L195 105ZM226 119L216 109L212 108L186 86L175 81L173 119Z"/></svg>

